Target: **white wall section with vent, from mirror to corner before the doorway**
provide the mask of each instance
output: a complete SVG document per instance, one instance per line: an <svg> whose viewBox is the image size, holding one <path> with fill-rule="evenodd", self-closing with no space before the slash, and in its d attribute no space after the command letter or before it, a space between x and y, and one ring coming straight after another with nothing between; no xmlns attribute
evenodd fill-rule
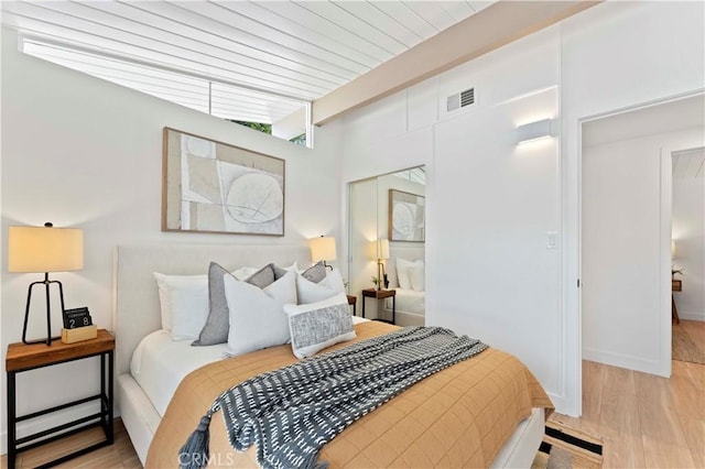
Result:
<svg viewBox="0 0 705 469"><path fill-rule="evenodd" d="M426 324L516 353L556 402L560 251L546 249L545 237L558 226L557 143L517 146L514 129L557 116L557 32L524 39L343 122L346 181L426 164ZM447 112L446 96L468 86L477 103Z"/></svg>

